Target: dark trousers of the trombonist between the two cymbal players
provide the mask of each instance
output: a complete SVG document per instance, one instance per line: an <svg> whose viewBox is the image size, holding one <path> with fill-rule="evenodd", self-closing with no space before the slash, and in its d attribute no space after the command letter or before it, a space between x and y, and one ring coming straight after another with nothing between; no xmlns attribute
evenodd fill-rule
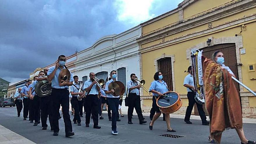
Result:
<svg viewBox="0 0 256 144"><path fill-rule="evenodd" d="M91 119L91 113L93 115L93 125L99 123L99 99L98 95L87 95L85 98L85 123L89 124Z"/></svg>

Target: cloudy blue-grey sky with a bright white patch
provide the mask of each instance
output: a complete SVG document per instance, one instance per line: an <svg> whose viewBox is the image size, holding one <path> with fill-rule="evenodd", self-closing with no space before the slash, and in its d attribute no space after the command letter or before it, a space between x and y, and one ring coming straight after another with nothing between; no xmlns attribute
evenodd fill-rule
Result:
<svg viewBox="0 0 256 144"><path fill-rule="evenodd" d="M90 47L177 8L182 0L1 0L0 77L16 82L60 54Z"/></svg>

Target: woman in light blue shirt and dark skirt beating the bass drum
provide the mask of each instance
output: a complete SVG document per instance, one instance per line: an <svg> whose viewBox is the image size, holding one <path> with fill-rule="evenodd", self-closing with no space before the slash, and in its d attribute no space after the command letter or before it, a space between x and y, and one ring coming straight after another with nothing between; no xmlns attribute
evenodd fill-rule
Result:
<svg viewBox="0 0 256 144"><path fill-rule="evenodd" d="M163 93L168 92L167 84L162 79L163 79L163 74L161 72L156 72L154 74L154 81L151 83L151 86L149 88L149 91L151 93L153 93L152 108L155 109L155 111L156 111L156 113L153 116L152 121L149 124L150 130L153 129L154 122L161 115L161 111L160 111L159 107L157 106L156 97L163 95ZM167 131L168 132L176 132L174 129L171 128L171 125L170 125L170 113L165 114L165 120L166 120L166 125L167 125Z"/></svg>

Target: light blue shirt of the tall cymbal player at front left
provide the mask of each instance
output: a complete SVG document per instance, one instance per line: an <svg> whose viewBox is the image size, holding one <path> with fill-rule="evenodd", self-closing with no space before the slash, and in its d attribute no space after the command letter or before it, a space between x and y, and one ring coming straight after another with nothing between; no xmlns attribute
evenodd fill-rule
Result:
<svg viewBox="0 0 256 144"><path fill-rule="evenodd" d="M51 67L49 69L49 71L47 72L47 75L49 76L53 71L54 71L55 67ZM65 69L65 67L63 67L63 69ZM61 68L58 67L58 69L56 70L55 72L55 75L54 75L54 78L51 80L51 87L52 88L68 88L68 86L60 86L59 85L59 74L61 72ZM70 72L70 71L69 71ZM73 75L72 73L70 72L70 81L69 82L73 82L74 79L73 79Z"/></svg>

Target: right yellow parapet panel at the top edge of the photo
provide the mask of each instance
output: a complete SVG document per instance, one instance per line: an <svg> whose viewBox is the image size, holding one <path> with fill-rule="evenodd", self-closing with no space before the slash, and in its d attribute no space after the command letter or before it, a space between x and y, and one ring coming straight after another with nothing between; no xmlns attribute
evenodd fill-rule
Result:
<svg viewBox="0 0 256 144"><path fill-rule="evenodd" d="M233 0L235 1L235 0ZM184 19L194 16L198 13L206 13L208 10L216 9L232 0L198 0L183 9Z"/></svg>

